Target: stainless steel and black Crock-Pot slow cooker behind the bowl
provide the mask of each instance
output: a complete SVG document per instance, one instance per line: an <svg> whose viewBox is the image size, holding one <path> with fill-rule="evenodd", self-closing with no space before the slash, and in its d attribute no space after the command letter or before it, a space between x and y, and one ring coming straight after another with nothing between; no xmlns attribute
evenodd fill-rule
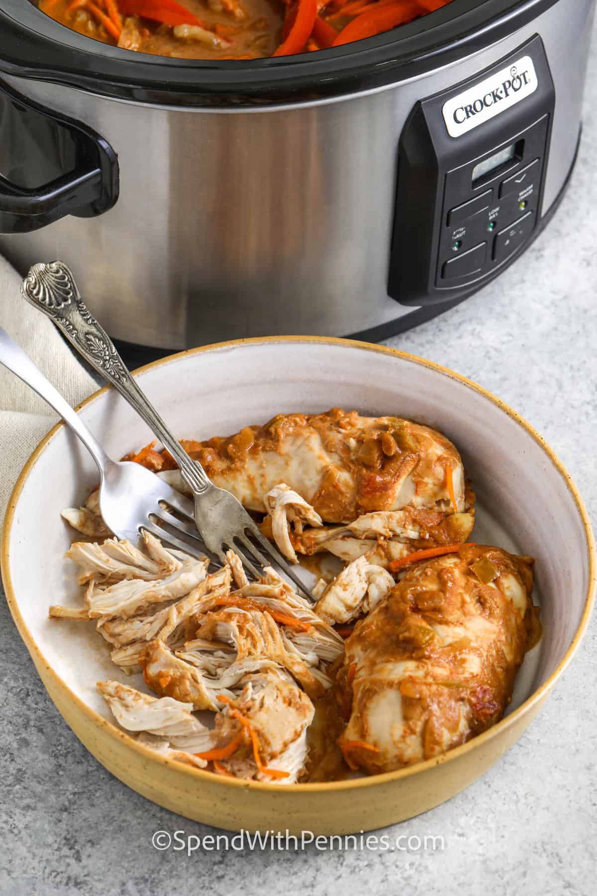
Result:
<svg viewBox="0 0 597 896"><path fill-rule="evenodd" d="M299 56L194 61L0 11L0 252L110 334L379 339L513 263L576 159L594 0L453 0Z"/></svg>

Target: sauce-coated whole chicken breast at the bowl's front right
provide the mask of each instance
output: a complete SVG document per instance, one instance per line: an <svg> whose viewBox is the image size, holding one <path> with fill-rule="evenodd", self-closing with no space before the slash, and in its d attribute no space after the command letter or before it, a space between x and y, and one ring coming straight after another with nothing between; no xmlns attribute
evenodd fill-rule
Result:
<svg viewBox="0 0 597 896"><path fill-rule="evenodd" d="M501 718L533 624L532 564L462 546L409 569L355 626L338 675L350 764L399 769Z"/></svg>

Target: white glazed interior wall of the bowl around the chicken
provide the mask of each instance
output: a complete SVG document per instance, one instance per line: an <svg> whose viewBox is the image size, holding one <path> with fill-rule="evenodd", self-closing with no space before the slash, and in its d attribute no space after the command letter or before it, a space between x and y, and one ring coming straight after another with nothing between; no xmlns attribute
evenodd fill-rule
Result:
<svg viewBox="0 0 597 896"><path fill-rule="evenodd" d="M413 360L350 345L248 343L175 358L141 375L179 438L226 435L281 411L339 406L436 426L463 454L482 511L473 538L536 558L543 638L525 661L512 708L559 666L584 610L589 562L582 517L564 476L533 435L481 392ZM81 418L115 458L150 441L148 428L114 392ZM49 620L54 603L81 605L72 564L72 530L60 517L97 483L84 448L65 427L50 440L21 490L10 533L13 590L38 649L66 684L110 718L95 690L124 676L91 623ZM129 680L136 684L134 676Z"/></svg>

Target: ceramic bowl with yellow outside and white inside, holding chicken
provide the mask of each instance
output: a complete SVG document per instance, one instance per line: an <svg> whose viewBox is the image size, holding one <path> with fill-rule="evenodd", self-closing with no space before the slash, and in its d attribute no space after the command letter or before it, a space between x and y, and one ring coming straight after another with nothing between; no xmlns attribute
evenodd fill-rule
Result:
<svg viewBox="0 0 597 896"><path fill-rule="evenodd" d="M4 586L48 694L98 761L144 797L188 818L231 831L320 834L371 830L412 817L497 762L572 659L593 601L589 522L566 470L541 436L462 376L393 349L347 340L223 343L165 358L137 376L180 438L226 435L280 411L334 406L437 426L462 452L478 495L473 537L536 558L543 637L525 660L505 719L448 754L401 771L280 787L222 778L152 754L115 727L96 692L99 679L121 676L93 625L47 617L50 603L74 606L80 600L72 568L63 560L72 530L60 511L81 503L97 482L90 456L58 425L14 489L2 545ZM79 412L115 457L149 441L147 427L111 390L97 392ZM531 758L528 771L540 773ZM507 781L501 786L507 788Z"/></svg>

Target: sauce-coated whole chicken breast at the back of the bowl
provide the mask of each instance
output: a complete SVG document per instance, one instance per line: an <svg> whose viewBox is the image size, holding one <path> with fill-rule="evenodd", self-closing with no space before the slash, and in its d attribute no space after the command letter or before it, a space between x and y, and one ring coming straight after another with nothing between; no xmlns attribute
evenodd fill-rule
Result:
<svg viewBox="0 0 597 896"><path fill-rule="evenodd" d="M281 483L327 522L409 507L438 512L438 525L468 509L455 446L430 426L402 418L337 408L311 416L278 414L265 426L183 444L217 486L252 511L265 513L266 495ZM166 455L161 469L172 465Z"/></svg>

